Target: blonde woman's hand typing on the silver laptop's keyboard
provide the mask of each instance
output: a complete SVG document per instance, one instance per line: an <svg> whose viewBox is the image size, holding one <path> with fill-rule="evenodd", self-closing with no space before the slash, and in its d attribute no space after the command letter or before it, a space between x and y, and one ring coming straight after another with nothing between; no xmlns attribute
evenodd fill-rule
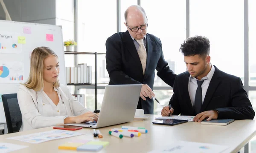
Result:
<svg viewBox="0 0 256 153"><path fill-rule="evenodd" d="M86 112L79 116L68 116L66 119L64 119L64 123L81 123L88 121L97 122L98 118L99 116L96 113Z"/></svg>

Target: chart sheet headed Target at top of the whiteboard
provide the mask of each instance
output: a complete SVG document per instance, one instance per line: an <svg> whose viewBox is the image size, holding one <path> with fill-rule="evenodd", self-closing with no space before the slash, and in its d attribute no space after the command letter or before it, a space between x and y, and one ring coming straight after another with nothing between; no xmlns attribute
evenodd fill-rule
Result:
<svg viewBox="0 0 256 153"><path fill-rule="evenodd" d="M18 33L0 31L0 53L21 53L22 44L18 43L18 37Z"/></svg>

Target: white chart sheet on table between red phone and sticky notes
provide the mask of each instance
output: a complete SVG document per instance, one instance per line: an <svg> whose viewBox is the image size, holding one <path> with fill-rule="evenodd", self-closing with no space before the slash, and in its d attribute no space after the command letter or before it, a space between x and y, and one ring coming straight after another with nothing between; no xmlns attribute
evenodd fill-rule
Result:
<svg viewBox="0 0 256 153"><path fill-rule="evenodd" d="M71 137L71 136L79 136L82 134L84 134L84 133L68 131L68 130L50 130L50 131L46 131L46 132L32 133L29 135L10 137L7 139L13 139L13 140L19 140L19 141L23 141L23 142L38 144L41 142L46 142L46 141L61 139L61 138L67 138L67 137Z"/></svg>

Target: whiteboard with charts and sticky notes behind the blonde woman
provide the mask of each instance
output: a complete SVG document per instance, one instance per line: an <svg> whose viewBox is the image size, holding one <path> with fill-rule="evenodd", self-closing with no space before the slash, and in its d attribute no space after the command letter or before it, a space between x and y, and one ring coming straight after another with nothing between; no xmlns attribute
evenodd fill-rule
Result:
<svg viewBox="0 0 256 153"><path fill-rule="evenodd" d="M30 54L39 46L49 47L58 55L59 80L66 85L61 26L0 20L0 95L17 93L20 83L26 82ZM0 122L6 122L2 102Z"/></svg>

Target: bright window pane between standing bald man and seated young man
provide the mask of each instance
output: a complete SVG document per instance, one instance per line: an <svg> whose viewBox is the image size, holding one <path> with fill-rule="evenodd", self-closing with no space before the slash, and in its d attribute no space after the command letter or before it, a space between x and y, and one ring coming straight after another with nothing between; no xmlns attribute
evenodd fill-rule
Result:
<svg viewBox="0 0 256 153"><path fill-rule="evenodd" d="M186 0L141 0L148 17L149 34L159 37L163 54L175 74L186 71L180 44L186 39ZM157 71L156 71L157 72ZM154 86L169 86L155 77Z"/></svg>

